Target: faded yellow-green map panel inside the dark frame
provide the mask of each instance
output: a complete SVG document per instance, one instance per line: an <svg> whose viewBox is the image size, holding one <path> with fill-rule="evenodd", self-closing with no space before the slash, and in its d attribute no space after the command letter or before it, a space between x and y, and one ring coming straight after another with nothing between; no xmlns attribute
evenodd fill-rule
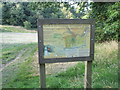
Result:
<svg viewBox="0 0 120 90"><path fill-rule="evenodd" d="M90 55L90 24L43 25L44 58Z"/></svg>

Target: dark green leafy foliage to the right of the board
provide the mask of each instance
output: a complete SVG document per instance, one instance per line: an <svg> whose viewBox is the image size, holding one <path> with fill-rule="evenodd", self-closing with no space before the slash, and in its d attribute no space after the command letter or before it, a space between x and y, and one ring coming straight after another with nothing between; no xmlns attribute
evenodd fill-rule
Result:
<svg viewBox="0 0 120 90"><path fill-rule="evenodd" d="M96 41L118 40L120 2L93 3L91 17L96 20Z"/></svg>

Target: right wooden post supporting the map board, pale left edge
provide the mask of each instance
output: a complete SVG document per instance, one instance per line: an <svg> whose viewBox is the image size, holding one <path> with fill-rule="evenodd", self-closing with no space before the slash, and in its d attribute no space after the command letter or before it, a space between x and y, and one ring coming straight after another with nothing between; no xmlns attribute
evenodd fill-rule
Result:
<svg viewBox="0 0 120 90"><path fill-rule="evenodd" d="M84 88L92 88L92 61L85 62Z"/></svg>

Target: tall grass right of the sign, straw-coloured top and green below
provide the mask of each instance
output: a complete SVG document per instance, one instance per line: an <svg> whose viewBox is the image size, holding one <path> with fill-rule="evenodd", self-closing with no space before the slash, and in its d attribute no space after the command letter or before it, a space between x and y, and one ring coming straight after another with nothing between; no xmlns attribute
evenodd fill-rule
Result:
<svg viewBox="0 0 120 90"><path fill-rule="evenodd" d="M93 87L118 87L118 43L115 41L97 44L93 62Z"/></svg>

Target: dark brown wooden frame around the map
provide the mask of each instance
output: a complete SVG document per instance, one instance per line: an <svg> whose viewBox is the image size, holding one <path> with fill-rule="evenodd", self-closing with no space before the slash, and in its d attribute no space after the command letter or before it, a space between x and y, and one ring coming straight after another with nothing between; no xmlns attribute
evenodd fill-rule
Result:
<svg viewBox="0 0 120 90"><path fill-rule="evenodd" d="M43 25L46 24L90 24L90 56L84 57L65 57L65 58L44 58L44 41ZM57 62L74 62L74 61L92 61L94 60L94 19L38 19L38 55L39 63L57 63Z"/></svg>

